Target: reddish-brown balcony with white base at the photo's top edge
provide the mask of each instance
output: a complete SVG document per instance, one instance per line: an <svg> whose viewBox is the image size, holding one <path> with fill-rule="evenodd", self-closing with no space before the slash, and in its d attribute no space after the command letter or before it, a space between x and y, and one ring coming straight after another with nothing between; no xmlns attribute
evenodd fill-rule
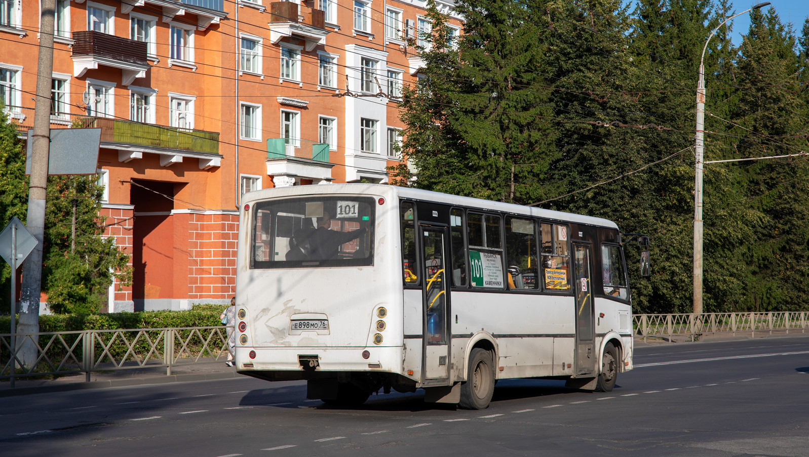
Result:
<svg viewBox="0 0 809 457"><path fill-rule="evenodd" d="M324 12L293 2L273 2L269 8L269 40L277 44L283 38L297 36L306 40L306 50L324 44L328 31Z"/></svg>

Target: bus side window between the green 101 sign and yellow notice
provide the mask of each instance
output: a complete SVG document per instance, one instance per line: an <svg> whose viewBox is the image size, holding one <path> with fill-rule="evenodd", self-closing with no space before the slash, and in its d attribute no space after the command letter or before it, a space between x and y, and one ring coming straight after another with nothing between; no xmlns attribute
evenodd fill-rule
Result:
<svg viewBox="0 0 809 457"><path fill-rule="evenodd" d="M530 219L506 218L506 271L509 288L538 289L536 225Z"/></svg>

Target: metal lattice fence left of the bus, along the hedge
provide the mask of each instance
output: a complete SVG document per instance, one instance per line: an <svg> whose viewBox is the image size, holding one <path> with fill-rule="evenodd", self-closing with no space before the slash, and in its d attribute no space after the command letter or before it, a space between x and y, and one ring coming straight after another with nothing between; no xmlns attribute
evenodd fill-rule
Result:
<svg viewBox="0 0 809 457"><path fill-rule="evenodd" d="M23 366L19 351L36 348ZM12 349L16 348L16 350ZM0 381L35 376L131 370L220 362L227 356L227 327L133 328L0 334Z"/></svg>

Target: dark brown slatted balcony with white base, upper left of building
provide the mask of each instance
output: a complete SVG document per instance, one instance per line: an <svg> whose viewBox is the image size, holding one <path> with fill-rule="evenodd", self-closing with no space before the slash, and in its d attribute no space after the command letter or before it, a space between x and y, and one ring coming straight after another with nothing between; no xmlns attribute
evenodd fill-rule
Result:
<svg viewBox="0 0 809 457"><path fill-rule="evenodd" d="M146 43L93 30L73 32L73 75L80 78L99 66L121 69L121 84L129 86L146 76Z"/></svg>

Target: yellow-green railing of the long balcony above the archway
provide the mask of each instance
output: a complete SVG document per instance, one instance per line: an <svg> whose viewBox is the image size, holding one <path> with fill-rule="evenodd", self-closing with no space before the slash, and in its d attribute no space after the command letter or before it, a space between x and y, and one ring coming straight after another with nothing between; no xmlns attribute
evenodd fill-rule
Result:
<svg viewBox="0 0 809 457"><path fill-rule="evenodd" d="M80 127L100 128L102 142L219 154L219 133L216 132L119 121L108 117L82 117L78 121Z"/></svg>

